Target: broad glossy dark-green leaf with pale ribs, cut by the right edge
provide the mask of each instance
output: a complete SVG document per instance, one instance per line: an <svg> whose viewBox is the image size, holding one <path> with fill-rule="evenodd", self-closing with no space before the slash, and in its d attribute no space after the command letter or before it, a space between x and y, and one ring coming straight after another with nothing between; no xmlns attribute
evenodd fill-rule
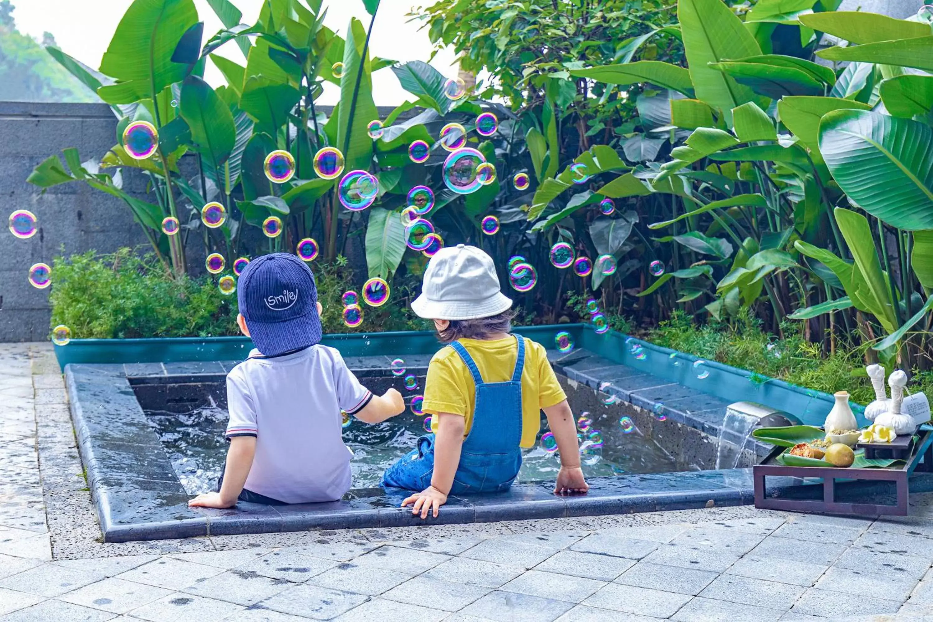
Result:
<svg viewBox="0 0 933 622"><path fill-rule="evenodd" d="M933 130L862 110L823 117L819 148L856 205L892 227L933 228Z"/></svg>

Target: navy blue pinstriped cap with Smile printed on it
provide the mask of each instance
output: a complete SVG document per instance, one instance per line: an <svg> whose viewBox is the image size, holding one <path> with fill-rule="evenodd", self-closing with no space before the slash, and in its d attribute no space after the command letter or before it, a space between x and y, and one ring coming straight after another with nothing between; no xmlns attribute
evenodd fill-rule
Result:
<svg viewBox="0 0 933 622"><path fill-rule="evenodd" d="M250 261L240 274L237 300L249 336L266 356L321 340L314 274L297 256L272 253Z"/></svg>

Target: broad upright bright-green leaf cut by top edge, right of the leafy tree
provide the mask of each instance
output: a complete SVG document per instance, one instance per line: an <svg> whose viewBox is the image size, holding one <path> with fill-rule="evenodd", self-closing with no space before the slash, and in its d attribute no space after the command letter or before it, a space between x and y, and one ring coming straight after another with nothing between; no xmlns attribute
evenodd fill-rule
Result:
<svg viewBox="0 0 933 622"><path fill-rule="evenodd" d="M757 56L758 42L722 0L678 0L677 18L697 98L731 122L732 108L754 101L755 94L709 63Z"/></svg>

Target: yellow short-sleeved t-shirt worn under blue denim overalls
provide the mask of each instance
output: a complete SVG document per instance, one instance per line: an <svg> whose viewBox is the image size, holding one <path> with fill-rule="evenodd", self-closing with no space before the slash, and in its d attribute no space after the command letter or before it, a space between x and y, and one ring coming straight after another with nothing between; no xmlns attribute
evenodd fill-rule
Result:
<svg viewBox="0 0 933 622"><path fill-rule="evenodd" d="M506 382L515 370L518 346L515 338L460 339L466 352L480 368L484 382ZM541 426L541 408L549 408L566 399L564 389L550 367L544 346L525 339L525 364L522 370L522 447L533 447ZM437 415L449 412L466 418L466 434L473 424L476 407L476 383L472 374L453 348L441 348L427 366L425 380L425 412ZM432 422L435 432L437 418Z"/></svg>

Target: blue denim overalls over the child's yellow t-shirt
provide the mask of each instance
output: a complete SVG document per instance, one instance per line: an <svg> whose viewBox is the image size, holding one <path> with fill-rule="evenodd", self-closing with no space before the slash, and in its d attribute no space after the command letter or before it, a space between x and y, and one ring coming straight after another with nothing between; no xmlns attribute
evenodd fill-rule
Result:
<svg viewBox="0 0 933 622"><path fill-rule="evenodd" d="M460 354L476 382L476 408L473 425L464 439L460 464L453 476L451 494L506 491L522 467L522 369L524 339L518 342L518 358L512 380L483 382L480 369L466 348L454 341L451 347ZM418 439L418 446L386 469L383 486L423 491L431 485L434 474L434 435Z"/></svg>

